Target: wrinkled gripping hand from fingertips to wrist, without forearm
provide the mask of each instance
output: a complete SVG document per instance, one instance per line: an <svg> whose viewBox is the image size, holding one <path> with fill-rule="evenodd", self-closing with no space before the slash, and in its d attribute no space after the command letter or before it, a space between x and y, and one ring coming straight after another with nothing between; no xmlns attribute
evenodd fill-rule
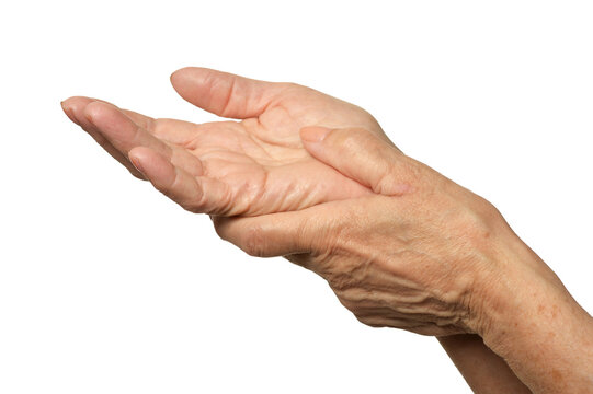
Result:
<svg viewBox="0 0 593 394"><path fill-rule="evenodd" d="M480 286L502 270L512 233L498 210L364 129L303 129L316 159L375 195L296 212L215 218L255 256L286 256L326 278L372 326L424 335L482 327Z"/></svg>

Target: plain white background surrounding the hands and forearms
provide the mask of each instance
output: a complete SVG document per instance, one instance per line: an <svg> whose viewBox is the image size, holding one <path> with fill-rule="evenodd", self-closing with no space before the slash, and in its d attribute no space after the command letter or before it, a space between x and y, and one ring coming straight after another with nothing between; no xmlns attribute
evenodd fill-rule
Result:
<svg viewBox="0 0 593 394"><path fill-rule="evenodd" d="M313 274L218 240L59 102L213 120L170 86L184 66L353 102L592 311L591 21L590 1L4 2L0 392L469 392L434 338L363 326Z"/></svg>

